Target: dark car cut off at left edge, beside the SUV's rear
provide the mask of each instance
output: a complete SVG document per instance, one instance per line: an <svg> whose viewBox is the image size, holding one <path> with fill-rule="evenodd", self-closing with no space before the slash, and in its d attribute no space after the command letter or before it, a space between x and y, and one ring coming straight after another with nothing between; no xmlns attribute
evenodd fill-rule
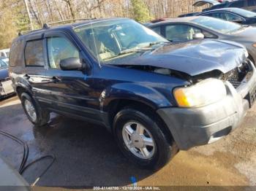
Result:
<svg viewBox="0 0 256 191"><path fill-rule="evenodd" d="M8 64L0 59L0 98L14 93L8 74Z"/></svg>

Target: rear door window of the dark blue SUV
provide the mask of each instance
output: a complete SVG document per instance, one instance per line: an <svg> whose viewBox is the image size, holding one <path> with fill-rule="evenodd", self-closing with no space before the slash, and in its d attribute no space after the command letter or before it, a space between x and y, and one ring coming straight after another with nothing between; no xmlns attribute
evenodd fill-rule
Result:
<svg viewBox="0 0 256 191"><path fill-rule="evenodd" d="M25 61L26 66L44 66L42 40L26 43Z"/></svg>

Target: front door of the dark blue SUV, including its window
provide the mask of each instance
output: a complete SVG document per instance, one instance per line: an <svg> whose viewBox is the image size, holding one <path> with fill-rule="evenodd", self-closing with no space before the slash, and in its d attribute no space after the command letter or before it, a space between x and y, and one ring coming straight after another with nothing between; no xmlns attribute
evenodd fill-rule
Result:
<svg viewBox="0 0 256 191"><path fill-rule="evenodd" d="M50 101L48 107L53 111L99 120L98 101L93 95L91 77L83 71L63 71L60 68L61 60L83 60L76 44L65 34L45 34L45 47L48 60L45 86L49 93L42 99Z"/></svg>

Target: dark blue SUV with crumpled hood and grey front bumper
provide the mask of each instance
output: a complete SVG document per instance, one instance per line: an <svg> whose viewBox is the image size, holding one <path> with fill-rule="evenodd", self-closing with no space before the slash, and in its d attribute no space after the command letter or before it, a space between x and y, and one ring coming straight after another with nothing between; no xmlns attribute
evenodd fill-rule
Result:
<svg viewBox="0 0 256 191"><path fill-rule="evenodd" d="M171 44L134 20L87 20L18 36L10 76L35 126L50 112L105 125L129 160L157 169L238 127L256 95L247 57L236 42Z"/></svg>

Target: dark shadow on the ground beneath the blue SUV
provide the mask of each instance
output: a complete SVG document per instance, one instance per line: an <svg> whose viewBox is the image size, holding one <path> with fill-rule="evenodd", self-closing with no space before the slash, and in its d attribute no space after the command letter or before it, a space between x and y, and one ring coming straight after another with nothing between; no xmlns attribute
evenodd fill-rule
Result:
<svg viewBox="0 0 256 191"><path fill-rule="evenodd" d="M56 163L39 186L123 186L152 174L129 161L104 127L67 117L53 117L44 128L33 128L40 149L56 156Z"/></svg>

